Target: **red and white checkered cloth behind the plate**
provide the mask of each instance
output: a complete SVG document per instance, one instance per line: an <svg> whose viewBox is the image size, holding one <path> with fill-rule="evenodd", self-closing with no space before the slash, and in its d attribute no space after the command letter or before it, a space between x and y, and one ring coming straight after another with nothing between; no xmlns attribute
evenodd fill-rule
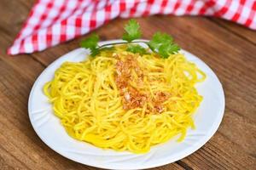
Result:
<svg viewBox="0 0 256 170"><path fill-rule="evenodd" d="M38 0L8 54L30 54L79 37L114 18L207 15L256 30L255 0Z"/></svg>

